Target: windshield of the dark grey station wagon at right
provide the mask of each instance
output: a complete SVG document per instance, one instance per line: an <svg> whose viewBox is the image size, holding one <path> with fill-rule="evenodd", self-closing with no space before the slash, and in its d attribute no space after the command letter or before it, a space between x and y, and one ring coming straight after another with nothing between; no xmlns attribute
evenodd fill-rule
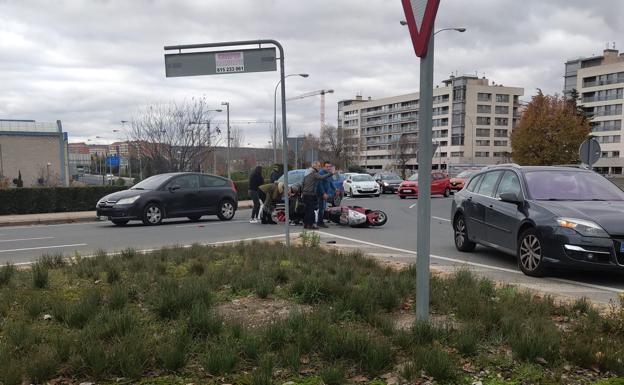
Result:
<svg viewBox="0 0 624 385"><path fill-rule="evenodd" d="M624 192L593 172L544 170L525 174L531 197L557 201L621 201Z"/></svg>

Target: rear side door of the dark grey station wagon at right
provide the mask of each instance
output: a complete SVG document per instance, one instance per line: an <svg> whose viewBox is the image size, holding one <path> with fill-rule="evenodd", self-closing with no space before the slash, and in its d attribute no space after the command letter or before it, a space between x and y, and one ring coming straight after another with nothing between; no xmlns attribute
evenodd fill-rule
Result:
<svg viewBox="0 0 624 385"><path fill-rule="evenodd" d="M468 235L471 239L486 241L485 209L494 201L494 192L503 171L490 171L483 174L474 194L470 194L466 210Z"/></svg>

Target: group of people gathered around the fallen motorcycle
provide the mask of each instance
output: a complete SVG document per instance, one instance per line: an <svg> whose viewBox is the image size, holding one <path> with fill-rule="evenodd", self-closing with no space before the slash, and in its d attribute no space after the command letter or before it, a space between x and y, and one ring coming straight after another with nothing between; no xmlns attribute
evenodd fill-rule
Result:
<svg viewBox="0 0 624 385"><path fill-rule="evenodd" d="M312 163L306 169L301 185L290 186L290 220L298 223L303 218L304 229L318 229L327 227L323 221L323 212L327 202L332 199L336 190L331 183L334 169L330 162L321 164ZM277 202L284 195L284 183L278 182L281 177L278 166L271 172L270 183L265 184L262 176L262 167L257 166L249 176L249 196L253 200L250 223L276 223L272 219L273 210ZM316 212L318 211L318 215Z"/></svg>

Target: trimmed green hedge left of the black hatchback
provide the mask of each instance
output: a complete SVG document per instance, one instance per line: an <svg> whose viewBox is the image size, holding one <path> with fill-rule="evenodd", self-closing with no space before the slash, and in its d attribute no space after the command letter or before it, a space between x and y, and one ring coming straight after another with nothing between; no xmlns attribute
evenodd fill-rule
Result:
<svg viewBox="0 0 624 385"><path fill-rule="evenodd" d="M90 186L0 190L0 215L92 211L100 198L124 189L120 186Z"/></svg>

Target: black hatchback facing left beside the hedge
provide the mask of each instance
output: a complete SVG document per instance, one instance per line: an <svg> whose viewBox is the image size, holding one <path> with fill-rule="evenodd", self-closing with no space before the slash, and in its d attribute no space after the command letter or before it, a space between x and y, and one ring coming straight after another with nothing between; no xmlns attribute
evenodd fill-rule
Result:
<svg viewBox="0 0 624 385"><path fill-rule="evenodd" d="M231 180L183 172L154 175L128 190L109 194L97 203L97 215L118 226L131 220L159 225L165 218L197 221L204 215L228 221L237 207L236 187Z"/></svg>

